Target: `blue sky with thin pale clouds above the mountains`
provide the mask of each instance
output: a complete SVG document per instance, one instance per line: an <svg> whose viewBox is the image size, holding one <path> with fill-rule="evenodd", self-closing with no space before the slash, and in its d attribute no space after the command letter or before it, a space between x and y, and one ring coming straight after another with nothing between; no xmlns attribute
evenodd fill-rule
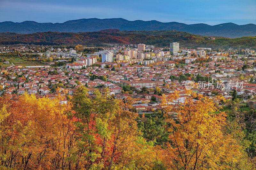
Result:
<svg viewBox="0 0 256 170"><path fill-rule="evenodd" d="M256 0L0 0L0 22L124 18L185 24L256 24Z"/></svg>

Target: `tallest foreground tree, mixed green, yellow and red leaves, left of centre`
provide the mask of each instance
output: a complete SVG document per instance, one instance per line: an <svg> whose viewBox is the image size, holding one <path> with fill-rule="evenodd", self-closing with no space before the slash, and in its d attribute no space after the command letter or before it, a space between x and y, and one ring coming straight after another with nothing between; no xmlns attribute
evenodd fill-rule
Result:
<svg viewBox="0 0 256 170"><path fill-rule="evenodd" d="M94 95L91 99L87 89L81 86L71 99L74 113L70 115L77 120L77 148L72 151L73 159L81 162L83 169L108 170L119 169L124 164L129 167L127 160L134 163L145 159L129 157L130 153L135 153L134 139L138 137L137 114L129 111L132 110L132 100L113 99L108 90L103 95L96 91ZM142 162L143 165L136 167L149 165L145 160Z"/></svg>

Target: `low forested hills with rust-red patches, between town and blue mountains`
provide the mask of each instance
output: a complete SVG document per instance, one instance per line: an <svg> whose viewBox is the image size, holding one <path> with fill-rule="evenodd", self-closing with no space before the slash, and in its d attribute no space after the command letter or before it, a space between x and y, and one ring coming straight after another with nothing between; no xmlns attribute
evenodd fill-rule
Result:
<svg viewBox="0 0 256 170"><path fill-rule="evenodd" d="M216 38L215 40L212 38ZM114 44L145 43L156 47L169 47L170 42L180 42L180 47L249 48L256 49L256 36L241 38L209 37L182 31L119 31L108 29L98 32L31 34L0 33L0 44L112 46Z"/></svg>

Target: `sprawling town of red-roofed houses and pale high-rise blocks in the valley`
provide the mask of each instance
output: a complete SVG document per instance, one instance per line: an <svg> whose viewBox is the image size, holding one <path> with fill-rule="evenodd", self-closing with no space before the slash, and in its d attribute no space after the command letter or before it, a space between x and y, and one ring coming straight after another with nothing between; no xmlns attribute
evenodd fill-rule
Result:
<svg viewBox="0 0 256 170"><path fill-rule="evenodd" d="M209 96L219 106L218 96L236 98L256 107L254 96L256 53L246 49L169 48L152 45L116 45L93 48L77 45L63 47L1 47L1 95L24 93L37 98L54 98L57 90L67 103L79 86L95 91L107 88L114 99L134 99L139 115L156 115L163 110L163 95L179 92L179 102L187 90ZM32 64L29 64L32 63ZM188 82L194 84L189 86Z"/></svg>

